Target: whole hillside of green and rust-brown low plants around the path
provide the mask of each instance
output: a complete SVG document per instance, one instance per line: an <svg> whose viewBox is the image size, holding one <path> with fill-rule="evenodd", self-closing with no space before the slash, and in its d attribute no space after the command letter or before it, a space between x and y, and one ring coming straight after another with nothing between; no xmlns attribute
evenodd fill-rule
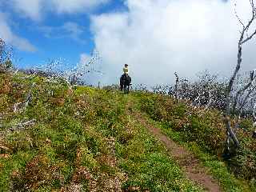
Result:
<svg viewBox="0 0 256 192"><path fill-rule="evenodd" d="M190 151L222 191L255 191L255 140L239 130L238 155L224 162L217 110L24 74L0 74L0 104L0 191L205 191L147 125Z"/></svg>

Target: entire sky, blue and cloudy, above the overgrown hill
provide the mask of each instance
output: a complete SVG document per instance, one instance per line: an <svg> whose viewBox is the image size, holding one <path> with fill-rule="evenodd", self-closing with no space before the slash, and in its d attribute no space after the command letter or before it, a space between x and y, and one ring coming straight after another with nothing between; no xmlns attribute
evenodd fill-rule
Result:
<svg viewBox="0 0 256 192"><path fill-rule="evenodd" d="M20 68L60 58L75 66L98 50L102 74L87 77L94 85L117 84L125 63L134 84L173 83L175 71L230 77L242 29L234 10L248 22L249 0L0 0L0 38ZM256 68L255 39L244 46L242 70Z"/></svg>

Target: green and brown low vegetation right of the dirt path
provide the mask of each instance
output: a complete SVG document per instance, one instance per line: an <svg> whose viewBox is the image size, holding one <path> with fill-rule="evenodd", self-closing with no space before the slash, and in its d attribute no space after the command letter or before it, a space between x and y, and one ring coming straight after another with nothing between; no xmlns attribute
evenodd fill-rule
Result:
<svg viewBox="0 0 256 192"><path fill-rule="evenodd" d="M152 123L162 129L175 142L192 151L225 191L255 191L255 140L245 130L252 127L243 119L244 130L238 130L241 146L237 154L224 161L226 131L218 110L194 109L185 102L177 102L160 94L134 94L138 110L148 115Z"/></svg>

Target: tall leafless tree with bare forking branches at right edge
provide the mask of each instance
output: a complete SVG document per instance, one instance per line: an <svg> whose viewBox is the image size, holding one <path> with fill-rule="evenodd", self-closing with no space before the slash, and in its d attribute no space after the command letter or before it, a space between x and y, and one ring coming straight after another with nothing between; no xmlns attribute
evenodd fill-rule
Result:
<svg viewBox="0 0 256 192"><path fill-rule="evenodd" d="M234 114L237 114L240 116L242 108L245 106L245 104L248 101L248 98L250 98L250 94L252 90L254 90L253 82L255 79L254 71L250 73L250 77L248 79L248 82L246 85L242 86L238 91L234 90L234 84L236 81L236 78L238 77L238 72L241 68L242 64L242 46L249 42L250 39L254 38L254 35L256 34L256 30L254 30L251 34L248 34L248 31L252 27L252 23L254 23L254 20L256 18L256 6L254 6L254 0L249 0L250 7L251 7L251 18L249 21L245 24L245 22L242 22L242 19L239 18L237 11L235 10L235 16L238 18L238 22L242 26L242 30L240 31L240 38L238 40L238 60L237 65L235 66L234 73L232 74L227 90L226 90L226 110L224 114L225 118L225 124L226 124L226 133L227 133L227 139L226 139L226 146L227 150L230 151L230 141L234 142L235 148L239 146L238 138L236 137L233 128L230 126L230 114L233 112ZM237 5L235 4L235 7ZM233 106L233 107L232 107ZM238 126L238 123L236 123L236 126Z"/></svg>

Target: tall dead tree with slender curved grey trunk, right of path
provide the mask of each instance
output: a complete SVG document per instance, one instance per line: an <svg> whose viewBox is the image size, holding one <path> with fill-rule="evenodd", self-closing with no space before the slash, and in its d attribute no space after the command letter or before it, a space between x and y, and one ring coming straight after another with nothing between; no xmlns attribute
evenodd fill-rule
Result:
<svg viewBox="0 0 256 192"><path fill-rule="evenodd" d="M241 63L242 63L242 46L246 42L249 42L251 38L254 38L254 35L256 34L256 30L254 30L254 32L252 32L251 34L248 34L248 31L250 30L250 27L252 26L252 23L254 22L254 20L256 18L256 7L254 6L254 0L249 0L249 1L250 1L250 7L251 7L251 18L250 18L249 22L247 22L247 24L244 24L244 22L242 22L242 20L238 17L238 14L235 10L235 16L238 18L238 22L242 25L242 31L240 31L241 35L238 40L237 65L234 69L233 75L230 78L230 81L229 81L229 84L228 84L227 90L226 90L226 110L225 110L225 114L224 114L224 122L226 125L226 134L227 134L226 147L227 147L228 151L230 151L230 140L232 140L234 142L235 148L237 148L239 146L238 138L236 137L236 134L234 133L234 130L230 125L230 112L231 112L232 100L237 102L237 98L238 98L239 94L246 92L246 90L248 90L250 88L251 83L254 81L254 73L252 73L250 76L250 82L246 86L242 87L241 90L238 90L238 92L235 94L236 96L234 98L232 98L231 93L234 91L233 88L234 88L235 78L238 75L238 71L240 70ZM236 6L236 4L235 4L235 6ZM248 98L243 98L242 103L246 102L247 99ZM240 109L237 109L237 105L234 105L232 112L234 113L235 111L239 111L239 110Z"/></svg>

